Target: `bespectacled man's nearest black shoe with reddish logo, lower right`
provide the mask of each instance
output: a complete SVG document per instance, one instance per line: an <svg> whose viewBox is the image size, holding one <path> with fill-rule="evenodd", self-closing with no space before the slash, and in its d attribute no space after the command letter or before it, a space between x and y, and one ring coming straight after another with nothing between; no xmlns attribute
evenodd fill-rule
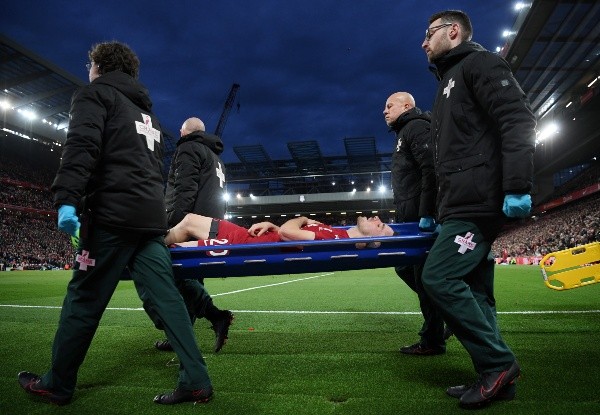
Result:
<svg viewBox="0 0 600 415"><path fill-rule="evenodd" d="M521 368L515 360L506 370L483 373L477 382L460 397L461 408L480 408L492 402L502 388L514 382L521 374Z"/></svg>

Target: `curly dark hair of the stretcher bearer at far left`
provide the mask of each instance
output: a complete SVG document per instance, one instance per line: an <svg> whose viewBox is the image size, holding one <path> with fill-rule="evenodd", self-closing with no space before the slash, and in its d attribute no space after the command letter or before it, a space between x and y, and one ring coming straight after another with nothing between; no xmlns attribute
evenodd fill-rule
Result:
<svg viewBox="0 0 600 415"><path fill-rule="evenodd" d="M140 60L125 43L117 41L97 43L92 46L88 56L90 61L98 65L100 74L121 71L135 79L139 76Z"/></svg>

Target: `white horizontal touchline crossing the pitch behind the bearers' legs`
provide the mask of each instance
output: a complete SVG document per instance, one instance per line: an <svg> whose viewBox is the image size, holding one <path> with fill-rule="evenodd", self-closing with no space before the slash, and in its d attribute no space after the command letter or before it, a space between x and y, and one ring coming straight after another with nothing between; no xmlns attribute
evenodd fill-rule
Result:
<svg viewBox="0 0 600 415"><path fill-rule="evenodd" d="M60 306L43 305L19 305L19 304L0 304L0 307L6 308L43 308L58 309ZM107 310L113 311L144 311L143 308L131 307L107 307ZM307 310L231 310L234 313L249 314L380 314L380 315L400 315L413 316L421 315L420 311L307 311ZM600 314L600 310L531 310L531 311L498 311L497 314L518 314L518 315L536 315L536 314Z"/></svg>

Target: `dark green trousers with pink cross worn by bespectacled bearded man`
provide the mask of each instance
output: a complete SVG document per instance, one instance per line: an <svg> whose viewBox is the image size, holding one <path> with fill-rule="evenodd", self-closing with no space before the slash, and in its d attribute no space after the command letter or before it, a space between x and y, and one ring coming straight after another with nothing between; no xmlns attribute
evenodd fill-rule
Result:
<svg viewBox="0 0 600 415"><path fill-rule="evenodd" d="M505 370L515 360L496 321L491 255L496 234L486 229L486 222L447 220L423 269L426 292L467 349L477 373Z"/></svg>

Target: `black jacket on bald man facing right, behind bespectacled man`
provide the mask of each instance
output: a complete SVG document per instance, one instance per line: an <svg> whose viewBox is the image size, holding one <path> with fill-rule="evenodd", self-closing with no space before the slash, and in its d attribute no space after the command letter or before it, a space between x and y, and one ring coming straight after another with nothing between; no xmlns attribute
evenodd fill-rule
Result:
<svg viewBox="0 0 600 415"><path fill-rule="evenodd" d="M392 189L399 222L435 216L430 119L429 113L415 107L390 126L397 139L392 153Z"/></svg>

